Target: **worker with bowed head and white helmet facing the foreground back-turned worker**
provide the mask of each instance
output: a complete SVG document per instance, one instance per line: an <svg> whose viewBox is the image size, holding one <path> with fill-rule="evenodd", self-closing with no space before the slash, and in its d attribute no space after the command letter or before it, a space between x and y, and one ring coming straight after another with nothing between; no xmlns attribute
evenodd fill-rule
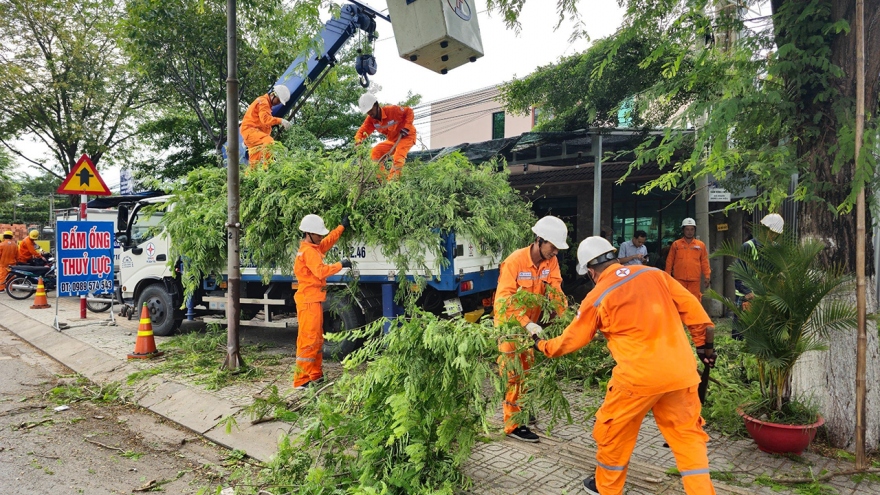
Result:
<svg viewBox="0 0 880 495"><path fill-rule="evenodd" d="M562 314L568 306L562 292L562 275L556 255L560 249L568 249L566 238L568 228L565 222L553 217L541 218L532 227L535 242L528 247L511 253L502 263L498 275L498 287L495 290L495 325L502 325L515 320L530 333L540 334L543 330L540 306L522 307L508 299L519 291L531 292L545 296L555 303L556 314ZM548 286L550 289L548 289ZM501 342L498 364L501 376L507 376L507 393L504 396L504 433L523 442L537 442L538 435L526 425L513 421L513 415L520 412L519 397L523 392L523 377L507 369L513 359L519 359L523 372L531 367L534 353L531 349L517 353L515 342Z"/></svg>

